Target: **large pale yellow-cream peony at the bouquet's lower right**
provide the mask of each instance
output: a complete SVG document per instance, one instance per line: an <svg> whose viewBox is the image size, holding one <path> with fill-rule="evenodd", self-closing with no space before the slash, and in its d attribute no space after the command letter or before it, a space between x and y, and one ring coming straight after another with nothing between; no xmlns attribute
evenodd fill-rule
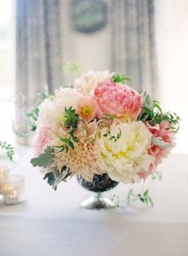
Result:
<svg viewBox="0 0 188 256"><path fill-rule="evenodd" d="M151 132L143 122L120 123L111 126L111 135L121 135L116 141L104 134L103 128L98 140L100 163L110 178L117 182L139 182L139 170L148 171L153 157L147 153L151 145Z"/></svg>

